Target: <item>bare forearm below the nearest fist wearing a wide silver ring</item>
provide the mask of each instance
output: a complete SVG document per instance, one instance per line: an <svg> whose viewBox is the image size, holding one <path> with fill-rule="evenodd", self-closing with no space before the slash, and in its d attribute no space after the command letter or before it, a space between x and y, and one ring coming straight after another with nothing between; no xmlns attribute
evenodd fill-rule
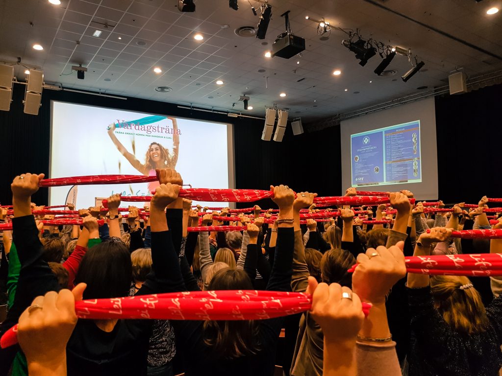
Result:
<svg viewBox="0 0 502 376"><path fill-rule="evenodd" d="M356 376L355 340L350 343L330 341L324 337L324 376Z"/></svg>

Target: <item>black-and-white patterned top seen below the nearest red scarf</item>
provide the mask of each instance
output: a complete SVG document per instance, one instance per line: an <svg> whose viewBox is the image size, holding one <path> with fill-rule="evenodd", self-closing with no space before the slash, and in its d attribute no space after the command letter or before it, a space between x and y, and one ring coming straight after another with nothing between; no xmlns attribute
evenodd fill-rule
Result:
<svg viewBox="0 0 502 376"><path fill-rule="evenodd" d="M129 296L136 294L134 282L131 283ZM168 320L154 320L150 348L148 349L148 365L158 367L170 362L176 355L174 330Z"/></svg>

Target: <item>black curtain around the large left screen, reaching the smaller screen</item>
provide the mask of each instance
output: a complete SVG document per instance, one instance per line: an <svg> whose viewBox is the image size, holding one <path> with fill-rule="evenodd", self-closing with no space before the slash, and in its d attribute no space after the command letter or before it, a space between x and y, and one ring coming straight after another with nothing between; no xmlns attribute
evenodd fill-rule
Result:
<svg viewBox="0 0 502 376"><path fill-rule="evenodd" d="M235 184L242 189L269 189L270 184L288 184L296 191L313 191L320 196L341 192L340 129L328 128L319 132L294 136L288 125L283 142L262 141L263 120L230 118L210 112L180 109L176 104L138 98L120 100L101 96L44 90L42 107L37 116L23 112L24 85L15 85L10 111L0 111L0 160L2 184L0 203L11 204L10 182L25 172L49 172L51 100L123 110L166 114L199 120L231 122L234 124ZM71 119L68 119L71 122ZM75 143L78 139L75 138ZM89 145L89 147L91 147ZM212 147L204 145L210 153ZM58 155L71 160L71 156ZM218 168L214 166L213 168ZM210 173L210 171L208 171ZM47 205L48 191L41 189L34 202ZM270 202L259 203L264 208ZM249 204L239 205L247 207Z"/></svg>

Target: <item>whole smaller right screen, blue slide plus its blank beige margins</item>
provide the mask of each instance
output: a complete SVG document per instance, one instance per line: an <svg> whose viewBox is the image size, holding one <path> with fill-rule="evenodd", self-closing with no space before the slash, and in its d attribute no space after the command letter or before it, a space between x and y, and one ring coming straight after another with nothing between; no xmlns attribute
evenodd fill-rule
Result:
<svg viewBox="0 0 502 376"><path fill-rule="evenodd" d="M410 190L438 199L434 98L399 104L340 123L342 183L359 191Z"/></svg>

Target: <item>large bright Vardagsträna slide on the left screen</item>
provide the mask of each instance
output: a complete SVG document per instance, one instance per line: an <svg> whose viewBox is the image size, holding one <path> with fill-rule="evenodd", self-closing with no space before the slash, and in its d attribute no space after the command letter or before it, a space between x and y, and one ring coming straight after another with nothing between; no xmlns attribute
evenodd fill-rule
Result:
<svg viewBox="0 0 502 376"><path fill-rule="evenodd" d="M234 187L231 124L57 101L52 102L51 119L48 177L155 175L155 168L169 167L180 172L183 183L193 188ZM115 193L150 196L158 185L158 181L80 185L77 208L94 206L97 199ZM71 188L49 189L49 205L66 204ZM197 204L228 206L228 203L193 203Z"/></svg>

